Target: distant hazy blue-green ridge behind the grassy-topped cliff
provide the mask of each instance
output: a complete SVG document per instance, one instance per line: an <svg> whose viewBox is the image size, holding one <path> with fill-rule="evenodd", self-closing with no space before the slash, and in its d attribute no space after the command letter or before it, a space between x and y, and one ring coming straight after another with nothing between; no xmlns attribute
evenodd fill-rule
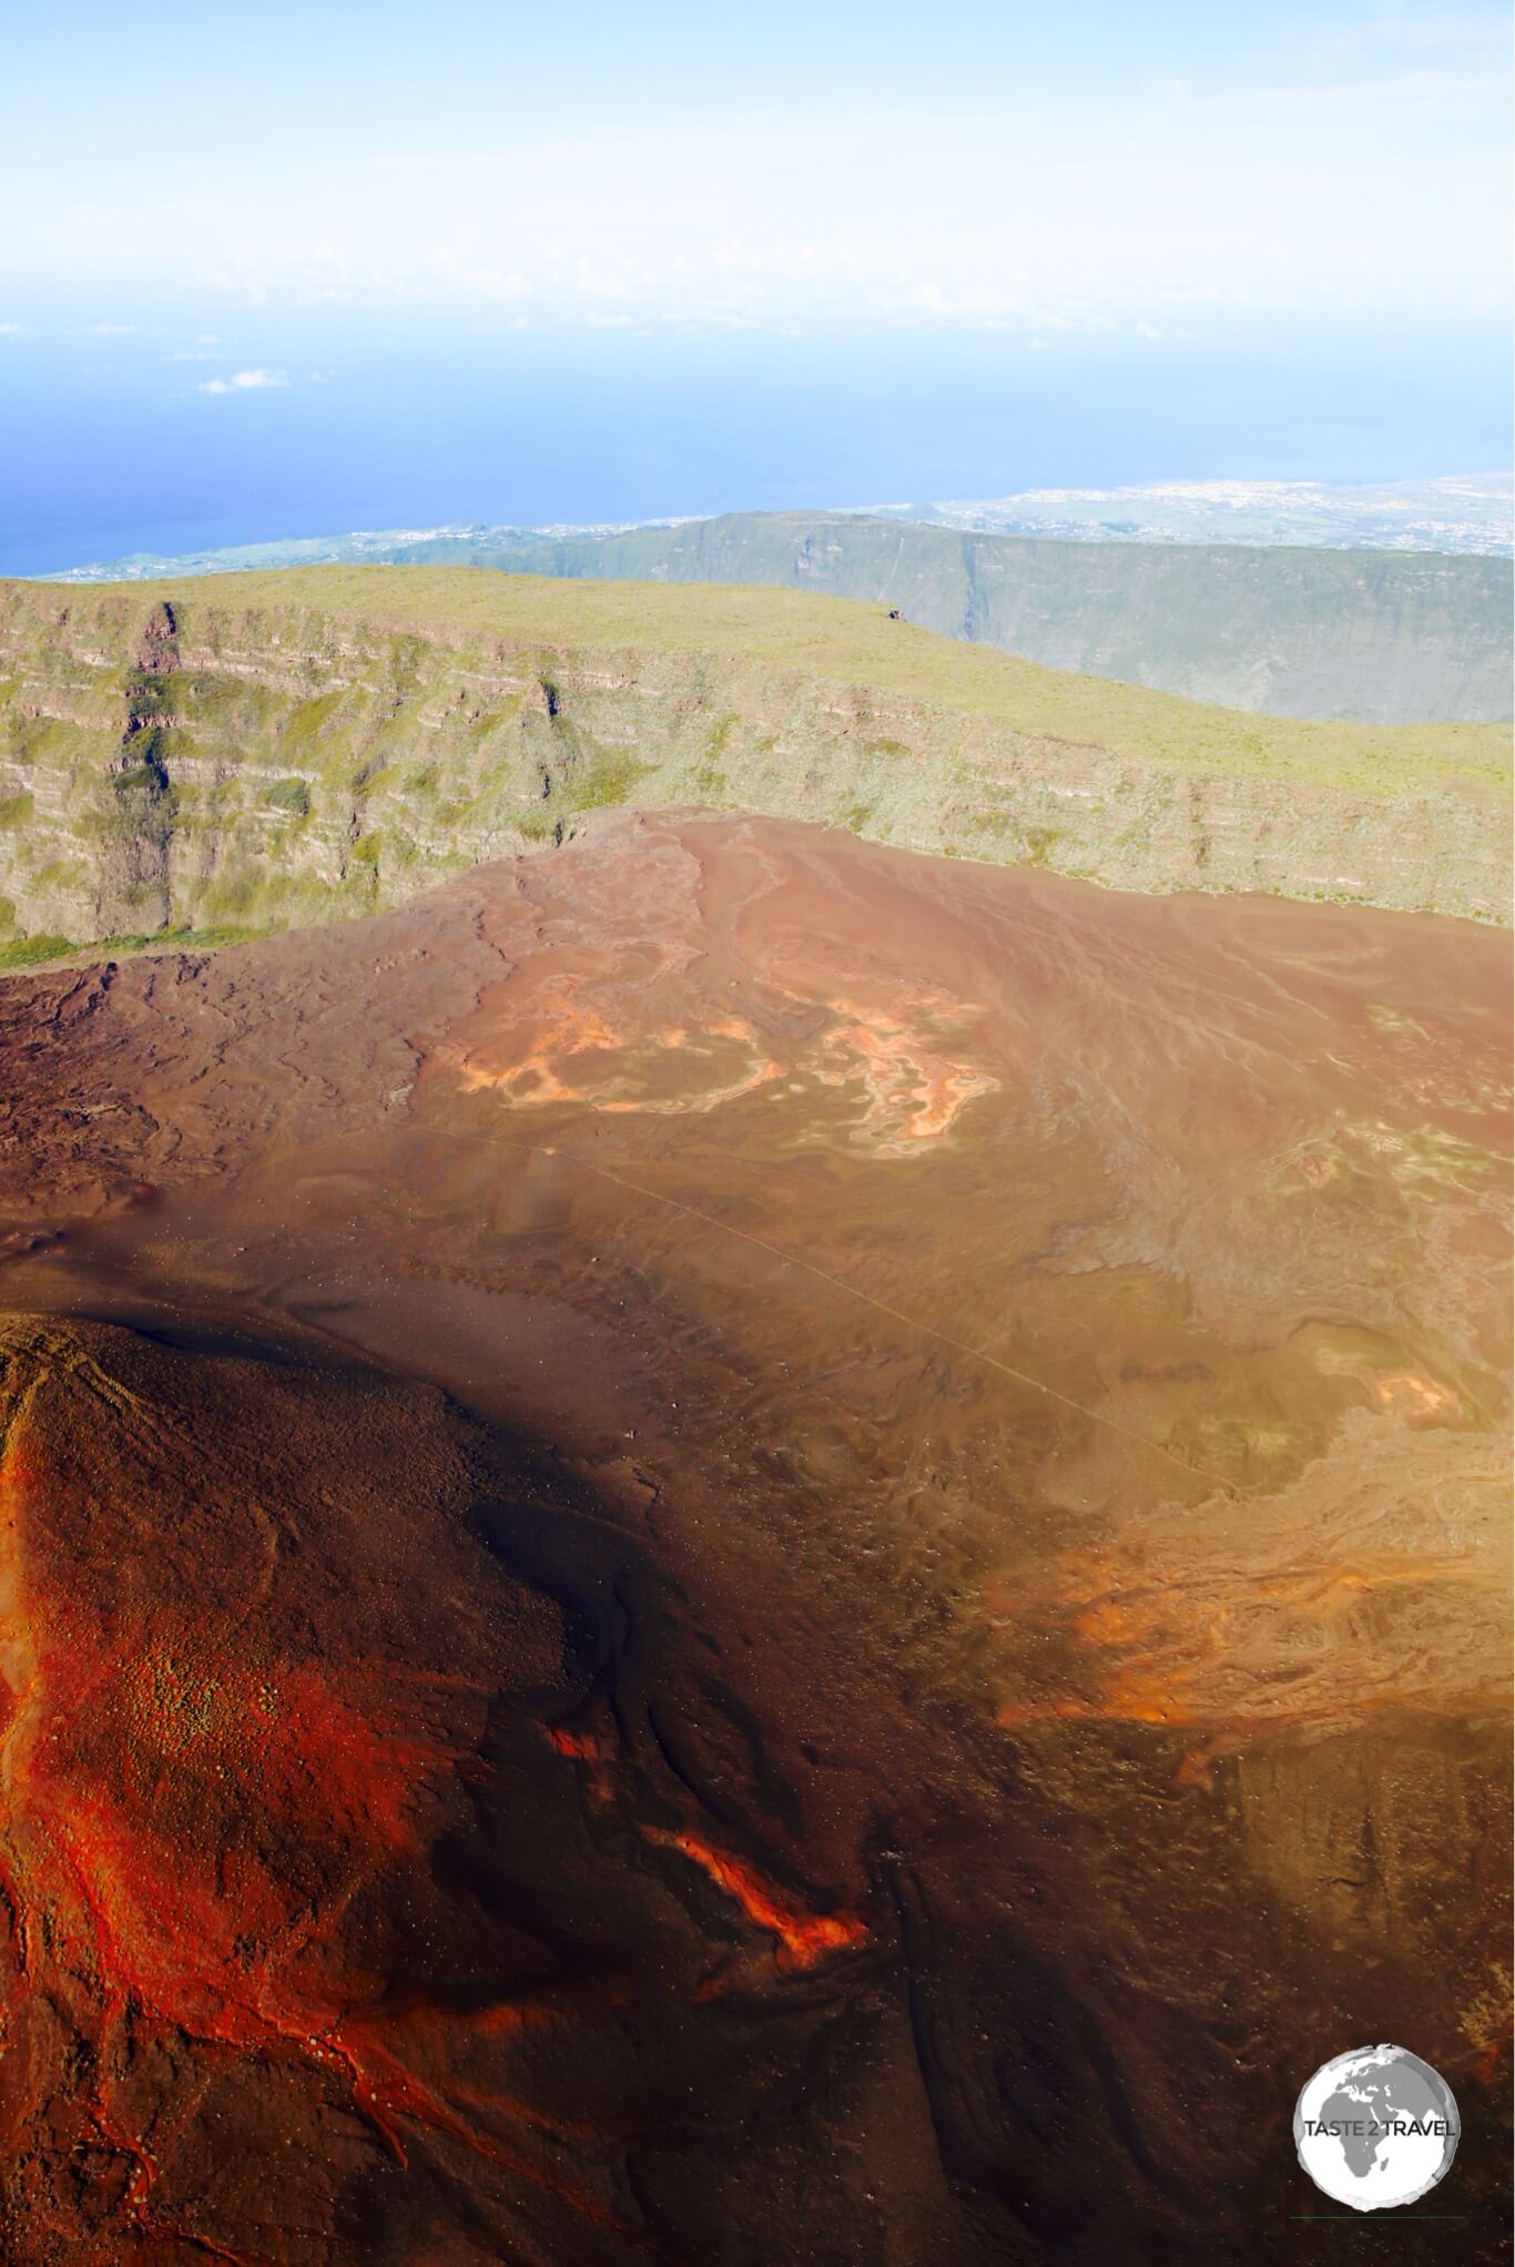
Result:
<svg viewBox="0 0 1515 2267"><path fill-rule="evenodd" d="M1508 558L1075 544L853 512L728 512L562 540L481 528L397 544L390 558L878 598L943 637L1279 716L1510 714Z"/></svg>

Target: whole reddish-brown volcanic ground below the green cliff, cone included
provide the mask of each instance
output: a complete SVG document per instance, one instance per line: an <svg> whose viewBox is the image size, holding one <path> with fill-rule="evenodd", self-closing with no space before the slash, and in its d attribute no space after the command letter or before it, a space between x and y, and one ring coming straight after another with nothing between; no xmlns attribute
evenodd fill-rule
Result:
<svg viewBox="0 0 1515 2267"><path fill-rule="evenodd" d="M16 2262L1506 2258L1504 939L615 821L0 988Z"/></svg>

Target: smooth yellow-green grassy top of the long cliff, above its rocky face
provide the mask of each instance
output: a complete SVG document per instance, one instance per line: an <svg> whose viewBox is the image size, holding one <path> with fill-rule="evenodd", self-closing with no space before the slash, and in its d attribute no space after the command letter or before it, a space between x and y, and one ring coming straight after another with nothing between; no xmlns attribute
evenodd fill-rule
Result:
<svg viewBox="0 0 1515 2267"><path fill-rule="evenodd" d="M34 594L66 601L57 585ZM889 621L882 605L735 585L562 583L469 567L286 567L270 574L93 585L132 610L299 608L442 639L558 651L717 653L771 671L993 719L1016 732L1107 748L1170 771L1263 775L1352 793L1492 789L1510 773L1508 725L1306 723L1204 707L1173 694L1041 669Z"/></svg>

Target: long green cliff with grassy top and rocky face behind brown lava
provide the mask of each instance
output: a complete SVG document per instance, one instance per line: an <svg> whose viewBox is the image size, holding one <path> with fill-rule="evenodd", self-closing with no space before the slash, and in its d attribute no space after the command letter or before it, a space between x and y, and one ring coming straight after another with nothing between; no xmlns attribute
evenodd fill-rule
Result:
<svg viewBox="0 0 1515 2267"><path fill-rule="evenodd" d="M0 966L376 911L626 807L1506 918L1508 730L1202 707L767 587L0 585Z"/></svg>

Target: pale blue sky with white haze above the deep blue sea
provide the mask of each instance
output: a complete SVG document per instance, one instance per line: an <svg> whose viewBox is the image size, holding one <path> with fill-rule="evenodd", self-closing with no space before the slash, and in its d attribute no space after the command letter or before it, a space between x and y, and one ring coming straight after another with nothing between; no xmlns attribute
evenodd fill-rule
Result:
<svg viewBox="0 0 1515 2267"><path fill-rule="evenodd" d="M125 342L172 304L1046 347L1508 308L1486 0L75 14L11 34L0 331Z"/></svg>

